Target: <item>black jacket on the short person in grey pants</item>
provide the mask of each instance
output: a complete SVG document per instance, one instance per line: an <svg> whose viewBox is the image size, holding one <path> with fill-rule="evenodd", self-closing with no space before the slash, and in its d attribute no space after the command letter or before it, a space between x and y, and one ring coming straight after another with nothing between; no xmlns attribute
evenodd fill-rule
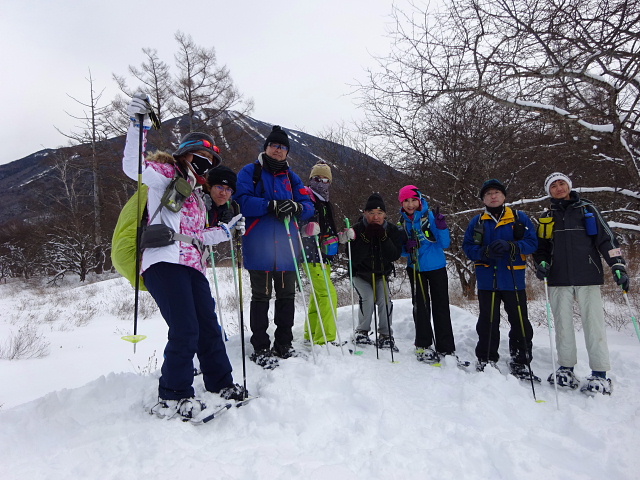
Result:
<svg viewBox="0 0 640 480"><path fill-rule="evenodd" d="M381 238L367 238L367 220L363 217L354 226L356 238L351 242L351 262L355 275L371 283L371 275L388 276L393 262L400 258L405 235L396 225L384 222L386 234Z"/></svg>

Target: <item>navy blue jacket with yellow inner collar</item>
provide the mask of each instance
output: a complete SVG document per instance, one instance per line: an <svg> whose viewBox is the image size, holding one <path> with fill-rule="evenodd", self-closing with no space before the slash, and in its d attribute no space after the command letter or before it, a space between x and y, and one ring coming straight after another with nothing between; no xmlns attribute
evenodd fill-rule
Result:
<svg viewBox="0 0 640 480"><path fill-rule="evenodd" d="M482 244L476 245L473 241L473 233L476 224L481 218L483 221ZM478 290L493 290L494 288L496 290L514 290L514 277L518 290L524 290L525 271L527 268L526 256L532 254L538 248L538 237L533 223L524 212L518 211L518 221L524 226L524 236L521 240L514 240L513 238L516 217L509 207L505 207L504 214L497 223L486 211L471 219L464 234L462 248L467 257L475 262ZM497 260L488 258L485 255L487 245L498 239L509 242L515 241L520 248L520 254L517 254L512 260L510 260L508 254ZM513 275L511 272L512 266Z"/></svg>

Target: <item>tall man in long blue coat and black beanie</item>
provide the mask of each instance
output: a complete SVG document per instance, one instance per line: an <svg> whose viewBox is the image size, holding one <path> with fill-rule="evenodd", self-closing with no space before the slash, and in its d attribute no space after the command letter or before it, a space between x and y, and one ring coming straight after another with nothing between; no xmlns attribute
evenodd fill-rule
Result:
<svg viewBox="0 0 640 480"><path fill-rule="evenodd" d="M276 125L264 142L264 152L238 173L234 199L246 217L242 237L244 266L251 279L251 360L264 368L278 364L275 357L295 354L293 318L295 313L296 262L285 222L289 225L295 256L300 255L298 230L293 220L307 220L314 212L307 189L287 162L289 137ZM276 292L274 343L269 327L269 300Z"/></svg>

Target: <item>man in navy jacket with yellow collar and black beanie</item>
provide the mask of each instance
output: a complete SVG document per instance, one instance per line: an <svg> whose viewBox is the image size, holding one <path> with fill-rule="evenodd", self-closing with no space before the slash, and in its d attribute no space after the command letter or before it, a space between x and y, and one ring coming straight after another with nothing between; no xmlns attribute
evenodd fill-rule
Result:
<svg viewBox="0 0 640 480"><path fill-rule="evenodd" d="M487 363L495 365L500 358L500 302L504 302L511 325L509 368L514 376L527 380L530 378L527 366L532 359L533 328L527 315L526 255L536 251L538 239L529 217L505 206L506 193L500 181L484 182L480 198L485 211L471 219L462 248L475 262L478 285L480 314L476 324L476 369L482 371ZM532 377L540 381L538 377Z"/></svg>

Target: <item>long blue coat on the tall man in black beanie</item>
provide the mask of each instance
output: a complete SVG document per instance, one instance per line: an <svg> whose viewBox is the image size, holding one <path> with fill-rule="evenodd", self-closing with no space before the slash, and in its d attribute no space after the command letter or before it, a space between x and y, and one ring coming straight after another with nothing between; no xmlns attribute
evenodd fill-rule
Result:
<svg viewBox="0 0 640 480"><path fill-rule="evenodd" d="M246 217L247 231L242 237L244 266L247 270L265 272L295 271L284 222L268 213L269 202L293 199L302 204L303 211L298 220L307 220L313 215L313 203L300 177L288 168L274 175L263 167L260 180L254 185L253 172L257 163L262 163L262 155L238 172L233 196ZM293 221L290 223L290 232L296 258L299 258L298 230Z"/></svg>

